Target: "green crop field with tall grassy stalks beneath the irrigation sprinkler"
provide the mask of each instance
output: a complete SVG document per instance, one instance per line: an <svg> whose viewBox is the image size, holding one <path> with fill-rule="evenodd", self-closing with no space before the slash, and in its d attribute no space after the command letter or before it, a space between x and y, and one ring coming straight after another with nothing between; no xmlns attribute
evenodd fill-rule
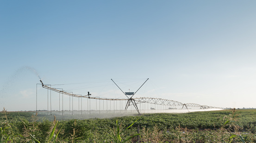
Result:
<svg viewBox="0 0 256 143"><path fill-rule="evenodd" d="M45 119L34 112L1 112L0 141L121 143L114 139L118 136L119 127L120 131L124 131L120 134L124 141L137 134L139 126L139 143L256 143L254 109L57 120ZM134 121L136 122L125 130ZM55 134L49 138L53 130ZM131 142L136 143L137 136L127 140L127 143Z"/></svg>

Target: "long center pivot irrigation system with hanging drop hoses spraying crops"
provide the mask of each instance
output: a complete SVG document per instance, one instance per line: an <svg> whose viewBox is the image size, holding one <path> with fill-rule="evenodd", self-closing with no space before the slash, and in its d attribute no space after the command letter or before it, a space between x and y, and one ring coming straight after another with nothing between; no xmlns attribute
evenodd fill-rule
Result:
<svg viewBox="0 0 256 143"><path fill-rule="evenodd" d="M112 79L111 79L112 80ZM140 90L140 88L148 81L144 81L144 83L137 89L136 92L123 92L123 90L112 80L112 82L120 89L121 92L125 94L127 98L102 98L102 97L92 97L92 94L90 92L87 92L87 95L81 95L81 94L74 94L73 92L67 92L64 91L62 88L53 88L49 84L44 84L42 80L40 80L43 88L47 89L48 91L53 91L59 93L59 114L63 115L63 95L69 96L69 113L74 114L73 112L73 98L78 98L78 105L77 103L75 106L78 106L78 113L83 114L82 107L87 106L87 114L91 113L91 100L95 100L94 103L96 103L96 111L98 110L97 107L101 106L99 108L100 111L105 111L106 113L109 112L129 112L128 110L131 109L132 111L135 111L138 114L141 113L163 113L163 112L180 112L181 110L187 110L187 112L190 112L191 110L205 110L205 109L222 109L219 107L212 107L207 105L199 105L196 103L180 103L178 101L174 100L168 100L168 99L162 99L162 98L155 98L155 97L134 97L134 95ZM48 92L47 92L48 94ZM62 110L61 110L61 97L62 97ZM87 105L82 105L82 99L87 99ZM49 111L49 95L47 95L47 111ZM99 105L97 106L97 101L99 101ZM105 106L104 106L105 104ZM125 108L123 107L125 105ZM37 106L37 97L36 97L36 106ZM51 114L51 92L50 92L50 114ZM112 108L111 108L112 106ZM36 111L37 107L36 107Z"/></svg>

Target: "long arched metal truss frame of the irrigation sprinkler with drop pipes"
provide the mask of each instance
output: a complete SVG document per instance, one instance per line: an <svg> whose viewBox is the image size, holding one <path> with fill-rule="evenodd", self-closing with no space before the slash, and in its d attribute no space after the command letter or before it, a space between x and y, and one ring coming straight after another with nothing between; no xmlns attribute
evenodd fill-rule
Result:
<svg viewBox="0 0 256 143"><path fill-rule="evenodd" d="M112 80L112 79L111 79ZM149 80L149 79L147 79ZM146 81L147 81L146 80ZM113 80L112 80L113 81ZM146 82L145 81L145 82ZM138 88L138 90L136 92L123 92L121 90L121 88L115 83L116 86L119 87L119 89L125 94L125 93L132 93L132 94L125 94L125 96L127 97L126 99L120 99L120 98L100 98L100 97L91 97L91 94L88 92L87 95L83 96L81 94L73 94L73 92L66 92L64 91L62 88L52 88L51 85L49 84L44 84L42 80L40 80L41 84L42 84L42 87L47 89L47 90L50 90L50 91L54 91L54 92L58 92L59 94L62 94L62 115L63 115L63 94L64 95L68 95L69 96L69 114L70 114L70 97L72 97L72 114L73 114L73 97L78 97L78 98L87 98L87 99L97 99L97 100L113 100L113 101L127 101L126 103L126 106L125 106L125 110L128 109L129 106L133 106L138 114L140 114L140 111L138 109L138 106L137 104L142 104L142 103L150 103L150 104L155 104L155 105L162 105L162 106L182 106L181 109L185 108L188 110L188 108L200 108L200 109L222 109L222 108L219 108L219 107L212 107L212 106L207 106L207 105L200 105L200 104L196 104L196 103L180 103L178 101L174 101L174 100L168 100L168 99L162 99L162 98L154 98L154 97L136 97L136 98L132 98L135 93L145 84L145 82L142 84L142 86L140 86ZM38 84L37 84L38 85ZM61 90L60 90L61 89ZM48 94L48 92L47 92ZM128 97L127 95L131 95L131 97ZM49 95L48 95L49 96ZM60 95L59 95L60 96ZM48 103L49 103L49 99L48 100ZM60 99L59 99L60 100ZM87 101L88 102L88 101ZM78 104L79 104L79 101L78 101ZM88 103L87 103L88 104ZM49 105L47 105L49 107ZM79 108L80 108L80 105L78 105ZM88 105L87 105L88 106ZM91 106L91 104L90 104ZM110 104L111 106L111 104ZM117 106L117 105L116 105ZM48 108L47 107L47 108ZM103 102L103 108L104 108L104 102ZM107 103L106 103L106 108L107 108ZM111 107L110 107L111 108ZM154 108L151 108L150 109L154 109ZM169 108L169 109L172 109L172 108ZM47 109L49 110L49 109ZM59 101L59 110L60 110L60 101ZM78 109L78 113L79 113L79 110ZM87 107L87 110L88 110L88 107ZM108 109L106 109L107 111ZM37 93L36 93L36 111L37 111ZM188 110L189 112L189 110ZM51 92L50 92L50 114L51 114ZM82 102L81 102L81 114L82 114Z"/></svg>

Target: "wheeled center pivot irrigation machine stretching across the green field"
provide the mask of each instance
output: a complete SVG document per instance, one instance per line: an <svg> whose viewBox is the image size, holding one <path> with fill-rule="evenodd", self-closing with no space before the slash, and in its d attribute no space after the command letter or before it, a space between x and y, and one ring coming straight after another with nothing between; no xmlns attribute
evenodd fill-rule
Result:
<svg viewBox="0 0 256 143"><path fill-rule="evenodd" d="M140 90L140 88L148 80L149 79L144 81L144 83L137 89L136 92L130 92L130 89L129 89L129 92L123 92L122 89L114 82L114 80L112 80L113 83L121 90L121 92L123 92L125 94L125 96L127 97L125 99L92 97L90 92L88 92L87 95L74 94L73 92L66 92L62 88L53 88L53 87L51 87L51 85L44 84L42 80L40 80L40 82L41 82L43 88L50 90L50 91L57 92L59 94L62 94L62 114L63 114L63 95L69 96L69 111L70 111L70 97L72 97L72 114L73 114L73 97L77 97L78 99L81 98L81 105L79 105L79 102L78 102L78 106L81 106L81 114L82 114L82 98L95 99L96 100L96 110L97 110L97 100L103 101L103 110L106 110L106 111L111 110L111 102L112 101L113 101L113 106L115 106L115 101L116 101L116 108L117 108L117 102L119 101L120 112L122 110L121 102L125 101L126 105L125 105L124 111L126 111L128 108L135 108L138 114L141 114L141 112L140 112L141 110L144 110L144 113L145 113L145 110L147 110L148 113L149 113L149 110L151 110L152 111L151 113L153 113L153 111L156 112L156 110L159 112L170 112L170 110L175 110L176 112L180 112L181 110L187 110L187 112L190 112L189 110L193 110L193 109L199 109L199 110L200 109L201 110L221 109L218 107L212 107L212 106L207 106L207 105L199 105L199 104L195 104L195 103L186 103L185 104L185 103L180 103L180 102L173 101L173 100L154 98L154 97L134 97L134 95ZM106 103L107 103L107 101L110 101L110 109L107 108L107 104L106 104L106 109L104 109L104 101L106 101ZM142 105L142 107L141 107L141 105ZM150 107L149 107L149 105L150 105ZM36 106L37 106L37 101L36 101ZM59 106L60 106L60 101L59 101ZM87 106L88 106L88 103L87 103ZM91 106L91 103L90 103L90 106ZM88 108L87 108L87 110L88 110ZM37 107L36 107L36 111L37 111ZM59 111L60 111L60 108L59 108Z"/></svg>

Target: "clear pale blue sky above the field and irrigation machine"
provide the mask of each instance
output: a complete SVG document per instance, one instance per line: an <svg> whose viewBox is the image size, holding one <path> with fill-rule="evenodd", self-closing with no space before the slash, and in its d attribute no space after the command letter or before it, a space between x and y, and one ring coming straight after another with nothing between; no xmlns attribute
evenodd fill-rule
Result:
<svg viewBox="0 0 256 143"><path fill-rule="evenodd" d="M47 84L149 78L153 86L137 97L256 108L255 7L255 0L1 0L0 108L35 109L34 69ZM97 86L77 94L113 90Z"/></svg>

